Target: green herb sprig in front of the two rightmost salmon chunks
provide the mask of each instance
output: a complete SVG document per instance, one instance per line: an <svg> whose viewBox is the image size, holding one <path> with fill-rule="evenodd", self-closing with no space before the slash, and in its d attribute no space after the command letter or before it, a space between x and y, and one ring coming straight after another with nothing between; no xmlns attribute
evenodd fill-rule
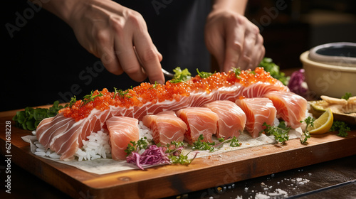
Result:
<svg viewBox="0 0 356 199"><path fill-rule="evenodd" d="M266 133L266 135L273 135L274 139L280 144L285 144L286 141L288 141L289 136L288 133L290 131L290 127L286 126L286 123L284 121L281 121L278 126L271 126L268 125L266 122L263 123L263 126L266 127L263 131Z"/></svg>

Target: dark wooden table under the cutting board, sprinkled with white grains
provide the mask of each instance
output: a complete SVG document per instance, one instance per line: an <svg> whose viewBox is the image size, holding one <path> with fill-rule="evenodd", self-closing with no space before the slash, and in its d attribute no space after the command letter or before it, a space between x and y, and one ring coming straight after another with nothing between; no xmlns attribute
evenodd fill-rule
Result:
<svg viewBox="0 0 356 199"><path fill-rule="evenodd" d="M70 198L16 164L11 165L11 194L5 193L5 168L4 156L1 156L0 198ZM258 193L267 195L275 192L276 189L286 191L288 198L356 198L356 156L295 168L290 171L171 198L255 198ZM82 199L93 198L88 193L80 193L80 195ZM283 195L276 198L283 198Z"/></svg>

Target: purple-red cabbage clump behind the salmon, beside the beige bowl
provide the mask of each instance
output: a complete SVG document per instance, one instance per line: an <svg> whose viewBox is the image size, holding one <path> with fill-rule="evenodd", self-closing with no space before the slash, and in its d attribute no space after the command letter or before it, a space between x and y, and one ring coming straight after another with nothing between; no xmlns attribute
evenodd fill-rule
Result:
<svg viewBox="0 0 356 199"><path fill-rule="evenodd" d="M288 88L290 92L294 92L303 97L308 96L308 88L305 87L305 76L304 76L304 69L300 69L295 71L290 75L290 80L288 82Z"/></svg>

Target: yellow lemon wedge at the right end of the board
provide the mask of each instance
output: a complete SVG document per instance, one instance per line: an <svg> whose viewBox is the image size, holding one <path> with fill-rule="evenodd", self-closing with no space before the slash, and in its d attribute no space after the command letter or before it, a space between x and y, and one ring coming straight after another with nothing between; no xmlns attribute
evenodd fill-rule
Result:
<svg viewBox="0 0 356 199"><path fill-rule="evenodd" d="M333 126L333 122L333 112L331 112L331 109L326 109L318 119L315 119L314 126L308 127L308 131L310 134L325 134Z"/></svg>

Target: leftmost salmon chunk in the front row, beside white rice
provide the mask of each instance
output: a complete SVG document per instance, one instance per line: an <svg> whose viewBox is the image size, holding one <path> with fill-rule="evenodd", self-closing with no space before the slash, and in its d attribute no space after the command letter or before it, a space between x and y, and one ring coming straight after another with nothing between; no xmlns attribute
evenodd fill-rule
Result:
<svg viewBox="0 0 356 199"><path fill-rule="evenodd" d="M125 160L127 145L140 138L138 120L132 117L110 117L106 126L110 133L112 159Z"/></svg>

